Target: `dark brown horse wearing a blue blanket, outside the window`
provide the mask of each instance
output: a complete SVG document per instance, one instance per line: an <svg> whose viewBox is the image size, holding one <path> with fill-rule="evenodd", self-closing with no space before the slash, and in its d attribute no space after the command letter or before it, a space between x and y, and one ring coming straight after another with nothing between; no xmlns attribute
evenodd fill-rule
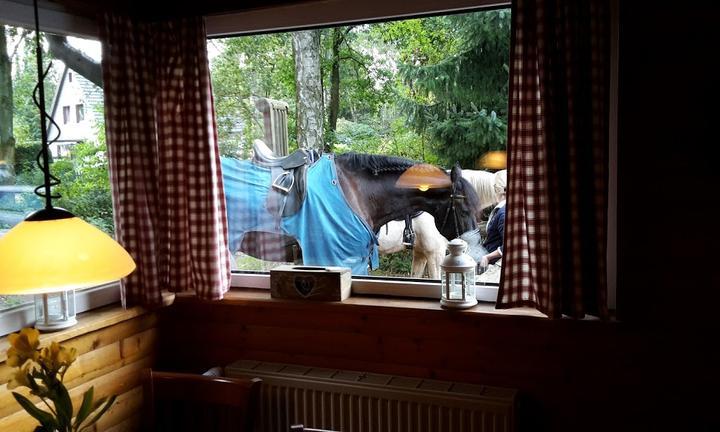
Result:
<svg viewBox="0 0 720 432"><path fill-rule="evenodd" d="M425 211L446 238L477 231L479 200L460 168L451 170L445 188L396 187L413 165L393 156L322 155L308 170L307 197L298 214L273 219L265 206L271 174L258 172L251 161L223 160L231 252L266 261L341 265L366 274L377 257L375 235L391 220ZM479 241L479 236L466 238Z"/></svg>

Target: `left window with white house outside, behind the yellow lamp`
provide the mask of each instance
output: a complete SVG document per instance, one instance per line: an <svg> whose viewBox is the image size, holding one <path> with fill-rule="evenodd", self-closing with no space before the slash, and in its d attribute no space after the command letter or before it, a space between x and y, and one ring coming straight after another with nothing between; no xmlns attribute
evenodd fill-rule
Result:
<svg viewBox="0 0 720 432"><path fill-rule="evenodd" d="M0 236L2 236L22 221L27 214L42 208L43 202L33 193L42 177L35 163L41 138L40 114L32 103L33 87L37 82L34 32L13 26L0 26L0 32L3 32L4 36L0 39L3 42L0 44L0 58L7 55L10 59L9 68L0 65L0 75L5 75L0 76L0 86L9 83L13 95L12 104L0 106L0 110L5 110L0 118L10 119L8 123L0 123L0 136L4 137L7 134L14 138L11 145L0 143ZM77 38L69 38L69 41L72 46L82 50L86 55L99 60L98 42ZM105 158L104 130L102 127L92 129L88 136L82 137L80 143L76 143L79 140L66 139L71 132L68 123L70 107L74 103L63 102L73 97L72 94L66 93L67 86L60 86L63 68L61 61L54 60L53 68L45 79L48 113L55 115L55 121L61 124L60 139L54 146L55 150L63 153L64 156L63 159L54 160L50 167L53 175L62 180L61 185L54 189L62 195L62 198L53 200L53 204L68 209L83 220L112 234L113 213ZM102 99L98 98L98 100L98 106L95 108L101 110ZM50 105L53 101L56 106ZM78 121L84 118L84 105L75 104ZM67 127L63 128L62 125ZM49 129L48 134L51 138L57 135L53 127ZM53 151L53 154L55 153ZM117 284L85 290L76 296L77 311L82 312L118 299ZM34 319L32 302L32 296L0 296L0 335L32 323Z"/></svg>

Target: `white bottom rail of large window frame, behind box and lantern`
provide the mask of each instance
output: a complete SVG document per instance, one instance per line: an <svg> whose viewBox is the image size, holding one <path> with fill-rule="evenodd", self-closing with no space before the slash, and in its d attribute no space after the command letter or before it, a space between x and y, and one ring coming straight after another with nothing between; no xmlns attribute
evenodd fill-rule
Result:
<svg viewBox="0 0 720 432"><path fill-rule="evenodd" d="M269 273L233 272L231 285L234 288L270 289ZM352 279L352 293L366 295L387 295L440 299L440 281L437 280L393 280L391 278L362 277ZM475 285L475 297L482 302L497 300L497 285Z"/></svg>

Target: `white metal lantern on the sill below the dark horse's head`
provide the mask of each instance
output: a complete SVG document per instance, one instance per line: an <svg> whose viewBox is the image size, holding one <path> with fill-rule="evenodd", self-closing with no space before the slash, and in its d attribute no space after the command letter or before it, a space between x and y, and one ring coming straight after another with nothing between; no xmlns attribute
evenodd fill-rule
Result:
<svg viewBox="0 0 720 432"><path fill-rule="evenodd" d="M475 306L475 260L466 254L467 243L457 238L448 243L450 254L440 264L440 304L464 309Z"/></svg>

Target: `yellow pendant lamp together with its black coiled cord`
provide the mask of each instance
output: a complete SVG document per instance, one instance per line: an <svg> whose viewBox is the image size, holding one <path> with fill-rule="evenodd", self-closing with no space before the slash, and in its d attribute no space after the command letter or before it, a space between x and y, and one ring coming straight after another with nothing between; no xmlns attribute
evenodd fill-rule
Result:
<svg viewBox="0 0 720 432"><path fill-rule="evenodd" d="M47 305L48 295L60 293L61 299L67 299L62 293L127 276L135 269L135 262L113 238L52 205L52 199L59 195L53 195L51 187L60 181L50 174L46 121L57 125L45 110L43 80L50 66L43 69L37 0L34 8L38 83L33 99L40 110L42 143L37 162L44 177L43 185L38 186L35 193L44 198L45 208L32 213L0 237L0 294L42 294L38 297ZM70 325L74 321L72 312ZM48 324L46 329L69 326L67 322L53 326L50 321L56 315L48 309L40 315ZM67 310L64 315L68 315ZM38 322L37 326L40 328L42 324Z"/></svg>

